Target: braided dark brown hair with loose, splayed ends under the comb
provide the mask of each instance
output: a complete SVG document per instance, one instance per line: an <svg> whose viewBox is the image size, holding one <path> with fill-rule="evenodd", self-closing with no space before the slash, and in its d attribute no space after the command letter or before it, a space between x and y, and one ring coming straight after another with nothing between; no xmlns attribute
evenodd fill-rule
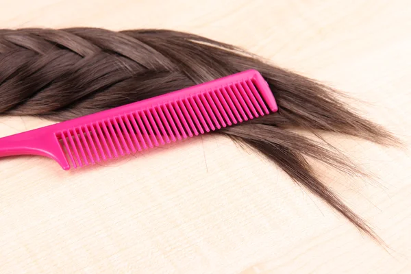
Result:
<svg viewBox="0 0 411 274"><path fill-rule="evenodd" d="M266 155L295 182L375 237L321 182L307 158L348 173L361 171L326 142L293 129L347 134L380 144L395 138L347 108L332 88L232 45L162 29L0 29L0 114L64 121L247 69L262 73L279 112L216 134Z"/></svg>

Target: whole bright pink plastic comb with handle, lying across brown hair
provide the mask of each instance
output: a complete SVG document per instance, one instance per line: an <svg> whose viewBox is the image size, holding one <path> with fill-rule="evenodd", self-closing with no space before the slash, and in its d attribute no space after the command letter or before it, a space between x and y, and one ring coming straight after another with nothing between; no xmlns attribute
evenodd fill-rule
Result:
<svg viewBox="0 0 411 274"><path fill-rule="evenodd" d="M277 111L273 93L258 71L249 70L0 138L0 157L42 155L69 170L247 121L269 110Z"/></svg>

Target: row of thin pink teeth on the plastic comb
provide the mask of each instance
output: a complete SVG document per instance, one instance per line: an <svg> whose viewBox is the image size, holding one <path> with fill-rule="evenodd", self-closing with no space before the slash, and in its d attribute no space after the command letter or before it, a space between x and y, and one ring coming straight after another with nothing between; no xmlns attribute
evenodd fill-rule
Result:
<svg viewBox="0 0 411 274"><path fill-rule="evenodd" d="M270 102L264 95L266 90L262 90L260 82L249 77L196 90L146 108L60 130L56 136L71 166L95 164L269 114L275 101L272 98Z"/></svg>

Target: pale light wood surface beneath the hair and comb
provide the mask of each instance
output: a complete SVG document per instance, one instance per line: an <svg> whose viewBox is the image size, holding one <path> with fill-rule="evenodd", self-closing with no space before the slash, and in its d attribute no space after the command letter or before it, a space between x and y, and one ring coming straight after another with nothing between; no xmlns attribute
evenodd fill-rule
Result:
<svg viewBox="0 0 411 274"><path fill-rule="evenodd" d="M249 49L348 95L411 142L409 1L14 0L0 27L178 29ZM0 98L1 99L1 98ZM1 117L0 136L46 125ZM0 160L0 273L411 273L406 150L334 145L374 180L323 175L377 245L264 158L218 136L65 172Z"/></svg>

